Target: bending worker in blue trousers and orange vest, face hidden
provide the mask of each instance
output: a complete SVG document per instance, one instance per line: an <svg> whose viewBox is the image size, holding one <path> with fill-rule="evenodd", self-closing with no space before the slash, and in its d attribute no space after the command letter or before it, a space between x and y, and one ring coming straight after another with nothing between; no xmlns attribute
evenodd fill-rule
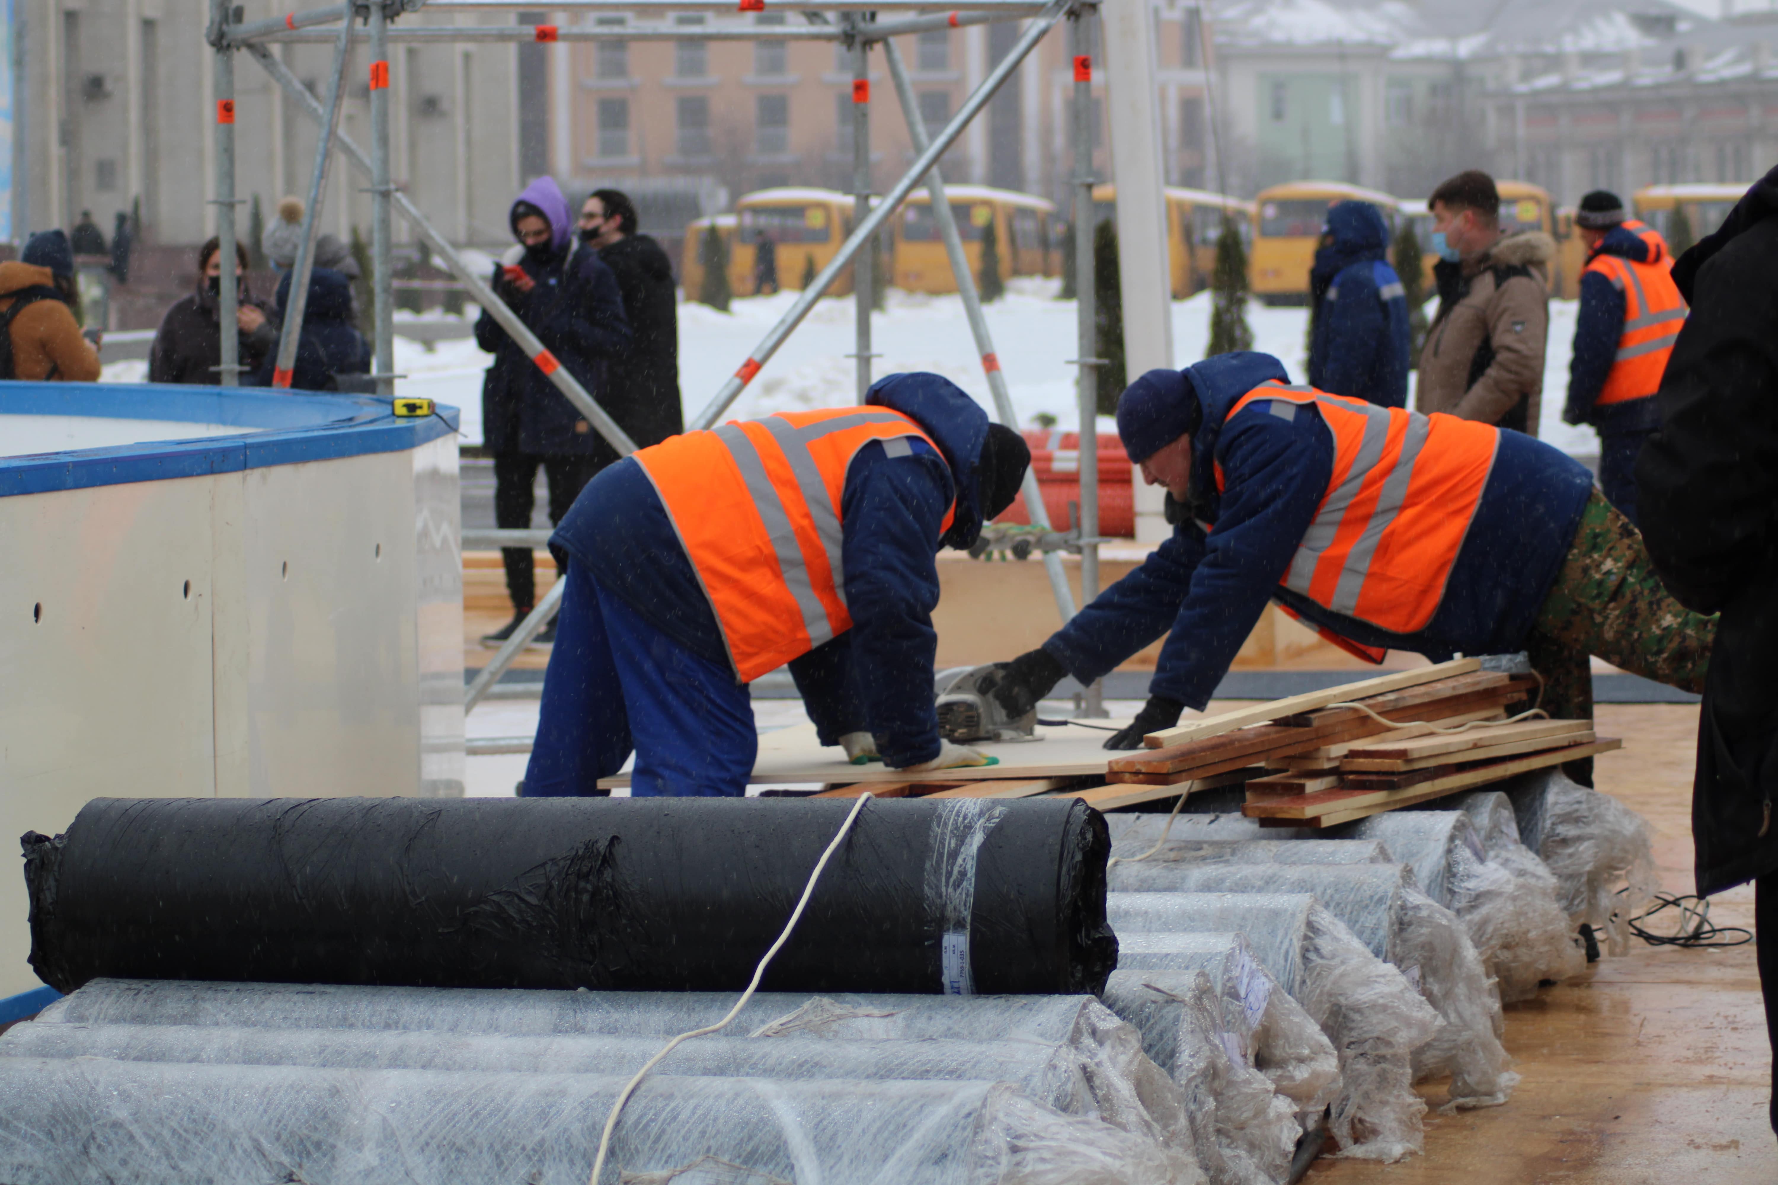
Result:
<svg viewBox="0 0 1778 1185"><path fill-rule="evenodd" d="M605 469L549 540L567 565L523 794L740 796L747 684L789 664L821 744L981 766L939 737L935 556L1012 505L1031 453L937 375L864 407L688 432Z"/></svg>

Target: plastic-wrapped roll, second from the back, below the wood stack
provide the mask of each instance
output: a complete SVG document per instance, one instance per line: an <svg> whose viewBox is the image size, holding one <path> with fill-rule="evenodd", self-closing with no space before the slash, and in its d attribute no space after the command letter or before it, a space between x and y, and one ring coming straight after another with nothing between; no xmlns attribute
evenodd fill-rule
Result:
<svg viewBox="0 0 1778 1185"><path fill-rule="evenodd" d="M1501 803L1495 810L1511 812L1504 794L1490 798ZM1490 853L1467 810L1392 810L1339 830L1382 840L1412 865L1426 895L1463 920L1501 1000L1527 1000L1542 981L1586 968L1556 878L1517 839L1497 839L1499 856Z"/></svg>

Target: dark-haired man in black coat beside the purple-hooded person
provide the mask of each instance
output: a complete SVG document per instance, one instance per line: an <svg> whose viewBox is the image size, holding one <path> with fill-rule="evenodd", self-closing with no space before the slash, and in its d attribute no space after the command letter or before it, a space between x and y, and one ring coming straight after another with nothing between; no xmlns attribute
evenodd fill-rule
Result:
<svg viewBox="0 0 1778 1185"><path fill-rule="evenodd" d="M629 354L610 362L605 410L637 448L685 432L679 407L679 309L672 259L637 233L637 206L619 190L594 190L580 206L580 238L617 277L629 318Z"/></svg>

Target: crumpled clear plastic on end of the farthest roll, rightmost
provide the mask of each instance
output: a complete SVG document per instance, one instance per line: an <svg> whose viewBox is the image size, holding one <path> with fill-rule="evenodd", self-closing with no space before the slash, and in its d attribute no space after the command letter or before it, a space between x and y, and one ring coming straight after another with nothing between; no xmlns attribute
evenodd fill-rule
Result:
<svg viewBox="0 0 1778 1185"><path fill-rule="evenodd" d="M1611 954L1623 954L1629 919L1661 888L1648 821L1559 769L1534 769L1501 789L1513 799L1520 840L1556 874L1570 924L1591 926Z"/></svg>

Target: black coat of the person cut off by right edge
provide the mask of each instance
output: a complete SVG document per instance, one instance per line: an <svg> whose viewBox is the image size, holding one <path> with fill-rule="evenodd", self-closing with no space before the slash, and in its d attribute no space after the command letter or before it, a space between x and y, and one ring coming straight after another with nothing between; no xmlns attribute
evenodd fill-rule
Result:
<svg viewBox="0 0 1778 1185"><path fill-rule="evenodd" d="M1691 316L1636 464L1643 538L1680 602L1721 613L1698 721L1698 892L1778 871L1778 169L1680 256Z"/></svg>

